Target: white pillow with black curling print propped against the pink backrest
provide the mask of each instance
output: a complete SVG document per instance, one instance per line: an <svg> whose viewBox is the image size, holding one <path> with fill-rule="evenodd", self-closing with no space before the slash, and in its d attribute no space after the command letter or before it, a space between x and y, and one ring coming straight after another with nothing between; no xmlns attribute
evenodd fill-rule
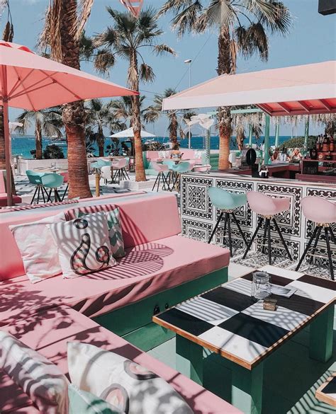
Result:
<svg viewBox="0 0 336 414"><path fill-rule="evenodd" d="M111 253L103 212L48 225L58 248L65 279L86 275L117 264Z"/></svg>

